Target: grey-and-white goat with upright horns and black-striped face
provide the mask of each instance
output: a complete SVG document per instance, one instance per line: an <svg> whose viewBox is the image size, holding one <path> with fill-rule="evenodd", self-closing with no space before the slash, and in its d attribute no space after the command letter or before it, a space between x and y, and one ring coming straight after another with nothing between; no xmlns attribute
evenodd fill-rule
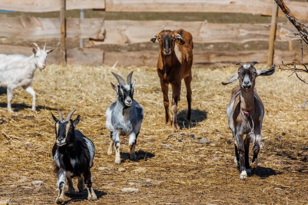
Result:
<svg viewBox="0 0 308 205"><path fill-rule="evenodd" d="M110 83L111 87L117 92L117 101L112 103L106 110L106 127L110 130L111 138L107 154L110 156L113 147L115 147L115 164L120 164L120 135L129 136L130 159L135 160L137 158L135 146L143 120L143 108L133 99L136 83L136 80L131 83L133 71L128 74L127 83L118 74L114 72L112 74L117 78L119 86Z"/></svg>

